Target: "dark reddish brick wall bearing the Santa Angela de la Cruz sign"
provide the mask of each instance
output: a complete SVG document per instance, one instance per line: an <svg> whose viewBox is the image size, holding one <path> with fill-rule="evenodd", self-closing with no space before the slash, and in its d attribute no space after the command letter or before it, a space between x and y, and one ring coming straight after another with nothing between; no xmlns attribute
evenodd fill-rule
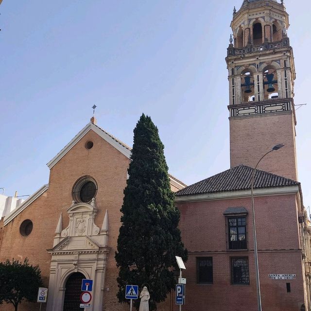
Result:
<svg viewBox="0 0 311 311"><path fill-rule="evenodd" d="M187 270L183 272L183 277L187 278L183 311L257 310L250 198L177 203L177 206L181 211L182 239L189 251ZM228 207L248 210L245 251L226 250L223 212ZM304 303L304 286L295 195L256 197L255 208L262 310L298 311L299 303ZM196 257L212 257L213 284L197 284ZM249 285L231 284L231 257L248 257ZM271 280L268 277L268 274L283 273L296 274L296 279ZM291 283L290 293L286 291L287 282Z"/></svg>

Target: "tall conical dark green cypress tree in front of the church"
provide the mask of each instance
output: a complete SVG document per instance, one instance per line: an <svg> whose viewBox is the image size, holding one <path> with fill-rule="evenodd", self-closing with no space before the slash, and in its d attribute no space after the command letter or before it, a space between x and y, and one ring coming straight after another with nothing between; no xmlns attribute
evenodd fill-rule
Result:
<svg viewBox="0 0 311 311"><path fill-rule="evenodd" d="M120 268L119 301L126 301L126 284L140 289L147 286L150 311L156 310L156 303L164 301L176 284L175 256L187 260L163 150L155 124L143 114L134 129L115 258ZM135 301L137 309L138 305L139 300Z"/></svg>

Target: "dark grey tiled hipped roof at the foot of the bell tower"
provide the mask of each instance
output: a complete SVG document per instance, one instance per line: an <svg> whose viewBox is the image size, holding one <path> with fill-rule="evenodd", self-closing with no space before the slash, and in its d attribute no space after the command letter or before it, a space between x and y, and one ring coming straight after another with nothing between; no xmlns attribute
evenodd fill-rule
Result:
<svg viewBox="0 0 311 311"><path fill-rule="evenodd" d="M176 195L191 195L222 191L236 191L251 189L251 177L253 168L239 165L225 172L216 174L207 179L199 181L182 190ZM284 187L299 185L297 181L276 174L257 170L254 179L254 189Z"/></svg>

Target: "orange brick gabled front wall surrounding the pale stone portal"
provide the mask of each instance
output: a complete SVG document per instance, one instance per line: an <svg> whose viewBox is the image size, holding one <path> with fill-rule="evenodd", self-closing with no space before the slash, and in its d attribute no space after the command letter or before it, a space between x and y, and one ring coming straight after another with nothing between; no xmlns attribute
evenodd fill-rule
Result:
<svg viewBox="0 0 311 311"><path fill-rule="evenodd" d="M88 140L94 143L91 149L85 148ZM129 310L128 306L120 304L116 297L118 269L114 259L128 165L127 157L93 131L88 132L52 167L49 189L3 228L0 237L0 261L12 258L24 260L27 257L30 263L40 266L44 286L48 287L51 255L47 249L52 248L59 215L61 213L63 215L64 229L69 224L67 208L72 204L72 187L81 176L90 175L98 185L96 195L98 213L95 224L99 227L102 226L106 209L108 209L109 219L108 246L110 253L106 266L103 310ZM19 226L25 219L30 219L33 222L33 231L27 237L23 237L19 233ZM2 226L3 222L0 222L0 228ZM46 306L43 304L41 310L45 311L45 308ZM0 306L0 310L11 311L14 308L4 304ZM39 304L24 302L18 310L39 310ZM160 308L159 311L161 310Z"/></svg>

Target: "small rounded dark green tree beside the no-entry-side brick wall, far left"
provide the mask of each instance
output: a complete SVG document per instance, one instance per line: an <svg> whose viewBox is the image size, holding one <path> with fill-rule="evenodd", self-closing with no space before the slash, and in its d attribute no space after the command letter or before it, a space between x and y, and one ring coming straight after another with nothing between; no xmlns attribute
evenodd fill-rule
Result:
<svg viewBox="0 0 311 311"><path fill-rule="evenodd" d="M17 306L23 300L35 302L38 288L42 286L39 266L12 259L0 262L0 303L12 303Z"/></svg>

